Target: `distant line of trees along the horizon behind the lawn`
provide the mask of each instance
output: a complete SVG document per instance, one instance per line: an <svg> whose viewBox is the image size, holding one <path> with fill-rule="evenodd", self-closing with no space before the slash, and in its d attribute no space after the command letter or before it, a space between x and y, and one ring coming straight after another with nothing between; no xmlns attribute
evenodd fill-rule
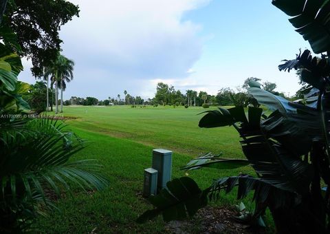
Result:
<svg viewBox="0 0 330 234"><path fill-rule="evenodd" d="M240 105L247 106L249 104L257 105L256 100L248 94L248 83L251 81L261 83L260 78L249 77L245 79L243 85L236 87L236 90L229 87L223 87L218 90L216 95L208 94L205 91L195 91L192 89L186 90L182 93L179 89L175 89L173 85L166 83L157 83L156 93L154 98L144 100L141 96L132 96L124 90L123 98L118 94L115 98L109 96L108 99L98 100L94 97L80 98L72 96L69 100L65 100L64 105L186 105L186 106L202 106L204 105ZM265 81L262 83L263 89L271 92L272 94L289 98L284 92L276 91L276 83ZM300 91L296 96L291 98L295 99L301 96Z"/></svg>

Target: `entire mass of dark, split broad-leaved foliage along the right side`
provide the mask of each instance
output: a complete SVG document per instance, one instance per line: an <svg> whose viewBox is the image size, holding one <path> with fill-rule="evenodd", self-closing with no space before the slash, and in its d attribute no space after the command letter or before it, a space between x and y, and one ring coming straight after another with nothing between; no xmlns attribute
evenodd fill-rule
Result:
<svg viewBox="0 0 330 234"><path fill-rule="evenodd" d="M330 1L272 3L294 17L289 21L309 41L314 52L330 51ZM278 68L300 70L303 81L311 87L306 96L308 102L305 105L289 102L251 81L248 92L259 104L268 107L267 112L257 107L249 107L247 113L243 107L219 108L206 111L199 122L199 127L206 128L233 126L241 136L246 160L208 153L182 168L233 169L250 164L257 177L241 174L219 178L205 190L189 178L169 182L164 191L150 198L156 208L146 211L139 222L161 213L166 221L191 216L208 200L219 199L221 191L228 193L238 187L238 199L254 192L254 220L270 209L278 233L330 232L329 54L313 58L305 50ZM322 188L322 184L326 187Z"/></svg>

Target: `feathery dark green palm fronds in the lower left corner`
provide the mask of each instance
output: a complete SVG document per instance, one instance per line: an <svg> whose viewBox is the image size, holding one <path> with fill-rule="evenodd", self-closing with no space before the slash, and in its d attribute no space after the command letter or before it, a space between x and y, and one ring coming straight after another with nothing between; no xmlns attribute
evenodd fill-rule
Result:
<svg viewBox="0 0 330 234"><path fill-rule="evenodd" d="M36 213L52 209L72 184L102 189L107 179L94 160L69 161L84 148L62 121L0 119L0 231L24 231ZM26 231L26 230L25 230Z"/></svg>

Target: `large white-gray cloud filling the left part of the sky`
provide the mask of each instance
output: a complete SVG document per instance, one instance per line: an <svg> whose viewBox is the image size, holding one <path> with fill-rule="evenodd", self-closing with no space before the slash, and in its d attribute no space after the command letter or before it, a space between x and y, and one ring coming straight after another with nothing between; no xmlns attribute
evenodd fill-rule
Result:
<svg viewBox="0 0 330 234"><path fill-rule="evenodd" d="M185 77L201 56L203 39L201 25L181 17L209 1L72 1L80 17L61 30L63 54L76 62L65 98L107 98L123 89L138 95L146 80Z"/></svg>

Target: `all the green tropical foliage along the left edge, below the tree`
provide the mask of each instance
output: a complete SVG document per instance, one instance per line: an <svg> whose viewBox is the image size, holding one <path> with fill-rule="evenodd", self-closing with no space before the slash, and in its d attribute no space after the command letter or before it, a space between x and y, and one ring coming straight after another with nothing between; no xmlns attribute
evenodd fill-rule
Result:
<svg viewBox="0 0 330 234"><path fill-rule="evenodd" d="M5 4L0 7L3 12ZM17 35L1 24L0 36L0 232L21 233L30 231L37 213L54 207L52 193L74 184L102 189L107 180L96 173L96 162L70 160L83 140L62 120L31 113L22 98L31 87L17 81L23 70Z"/></svg>

